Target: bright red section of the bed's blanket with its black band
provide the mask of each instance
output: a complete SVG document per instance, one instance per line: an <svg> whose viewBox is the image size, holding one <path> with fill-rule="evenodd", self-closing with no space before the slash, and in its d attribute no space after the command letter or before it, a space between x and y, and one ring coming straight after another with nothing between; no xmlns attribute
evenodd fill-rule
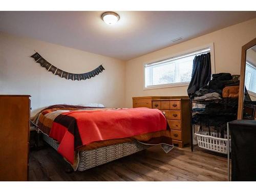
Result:
<svg viewBox="0 0 256 192"><path fill-rule="evenodd" d="M157 109L100 109L63 112L49 136L59 141L58 152L71 164L75 150L95 141L133 137L166 130L167 122Z"/></svg>

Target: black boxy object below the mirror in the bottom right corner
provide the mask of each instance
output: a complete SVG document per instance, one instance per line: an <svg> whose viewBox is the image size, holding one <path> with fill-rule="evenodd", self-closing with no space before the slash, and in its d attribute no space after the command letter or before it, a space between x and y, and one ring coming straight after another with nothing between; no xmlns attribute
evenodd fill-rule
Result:
<svg viewBox="0 0 256 192"><path fill-rule="evenodd" d="M256 181L256 121L229 122L231 135L231 180Z"/></svg>

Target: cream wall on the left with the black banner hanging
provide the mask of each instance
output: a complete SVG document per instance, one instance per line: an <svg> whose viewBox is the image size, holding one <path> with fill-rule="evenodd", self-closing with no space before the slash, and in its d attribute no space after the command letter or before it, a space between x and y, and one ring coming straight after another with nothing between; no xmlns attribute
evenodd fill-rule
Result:
<svg viewBox="0 0 256 192"><path fill-rule="evenodd" d="M88 72L101 64L105 70L90 80L67 80L40 67L30 57L34 50L64 71ZM0 94L31 95L32 112L61 103L124 105L125 63L114 58L0 33L0 67Z"/></svg>

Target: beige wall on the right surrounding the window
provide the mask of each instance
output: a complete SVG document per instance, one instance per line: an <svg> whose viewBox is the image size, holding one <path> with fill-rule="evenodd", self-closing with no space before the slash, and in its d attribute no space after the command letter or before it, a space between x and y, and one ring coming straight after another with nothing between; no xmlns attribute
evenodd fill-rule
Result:
<svg viewBox="0 0 256 192"><path fill-rule="evenodd" d="M143 90L144 63L168 58L214 42L216 73L240 74L241 48L255 37L256 19L252 19L127 61L125 65L125 106L132 107L134 96L187 95L187 87Z"/></svg>

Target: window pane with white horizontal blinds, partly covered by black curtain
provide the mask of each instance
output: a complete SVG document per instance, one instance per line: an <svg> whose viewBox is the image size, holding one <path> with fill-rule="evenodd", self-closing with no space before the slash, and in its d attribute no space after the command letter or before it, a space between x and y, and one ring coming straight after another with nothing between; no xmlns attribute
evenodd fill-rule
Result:
<svg viewBox="0 0 256 192"><path fill-rule="evenodd" d="M210 48L146 64L145 88L158 88L163 85L187 86L191 80L195 56L208 52Z"/></svg>

